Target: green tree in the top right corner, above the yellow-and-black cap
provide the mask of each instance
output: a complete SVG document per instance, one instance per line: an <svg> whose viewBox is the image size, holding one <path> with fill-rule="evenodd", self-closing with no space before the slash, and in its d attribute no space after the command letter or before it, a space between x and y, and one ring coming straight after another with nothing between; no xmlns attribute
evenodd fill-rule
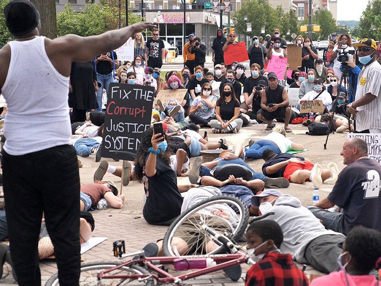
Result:
<svg viewBox="0 0 381 286"><path fill-rule="evenodd" d="M360 17L360 38L381 40L381 0L371 0Z"/></svg>

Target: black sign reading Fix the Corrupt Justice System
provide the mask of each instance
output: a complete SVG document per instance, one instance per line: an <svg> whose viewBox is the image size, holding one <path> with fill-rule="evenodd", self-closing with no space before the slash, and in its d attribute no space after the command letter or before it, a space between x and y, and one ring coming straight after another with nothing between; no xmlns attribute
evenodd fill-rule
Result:
<svg viewBox="0 0 381 286"><path fill-rule="evenodd" d="M154 88L110 83L102 157L134 161L142 134L151 123Z"/></svg>

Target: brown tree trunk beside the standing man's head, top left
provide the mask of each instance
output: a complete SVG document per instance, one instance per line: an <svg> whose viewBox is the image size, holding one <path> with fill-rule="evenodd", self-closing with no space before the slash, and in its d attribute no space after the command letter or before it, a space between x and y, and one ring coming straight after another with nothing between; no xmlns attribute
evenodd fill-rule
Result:
<svg viewBox="0 0 381 286"><path fill-rule="evenodd" d="M40 35L50 39L57 37L57 19L54 0L31 0L40 12L41 30Z"/></svg>

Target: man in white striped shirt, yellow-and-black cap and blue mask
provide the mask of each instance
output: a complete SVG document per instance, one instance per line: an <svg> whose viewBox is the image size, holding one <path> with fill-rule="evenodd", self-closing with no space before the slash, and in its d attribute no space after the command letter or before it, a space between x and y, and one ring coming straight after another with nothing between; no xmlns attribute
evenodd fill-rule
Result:
<svg viewBox="0 0 381 286"><path fill-rule="evenodd" d="M381 133L381 66L377 62L377 45L373 39L362 39L354 45L364 68L359 74L356 100L347 110L356 114L356 132Z"/></svg>

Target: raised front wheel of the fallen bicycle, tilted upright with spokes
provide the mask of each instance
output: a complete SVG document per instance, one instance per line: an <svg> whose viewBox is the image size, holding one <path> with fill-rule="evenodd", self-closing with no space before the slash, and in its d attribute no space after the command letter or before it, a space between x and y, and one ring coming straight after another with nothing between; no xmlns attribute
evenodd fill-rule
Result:
<svg viewBox="0 0 381 286"><path fill-rule="evenodd" d="M227 224L226 219L211 215L212 209L219 208L233 212L236 221ZM224 252L224 246L217 247L214 244L210 247L211 236L201 228L200 222L230 239L239 239L247 227L248 218L246 204L236 197L217 196L199 202L181 213L169 227L163 240L164 255L205 255ZM177 243L178 238L181 238L180 244ZM185 248L183 242L186 243Z"/></svg>

